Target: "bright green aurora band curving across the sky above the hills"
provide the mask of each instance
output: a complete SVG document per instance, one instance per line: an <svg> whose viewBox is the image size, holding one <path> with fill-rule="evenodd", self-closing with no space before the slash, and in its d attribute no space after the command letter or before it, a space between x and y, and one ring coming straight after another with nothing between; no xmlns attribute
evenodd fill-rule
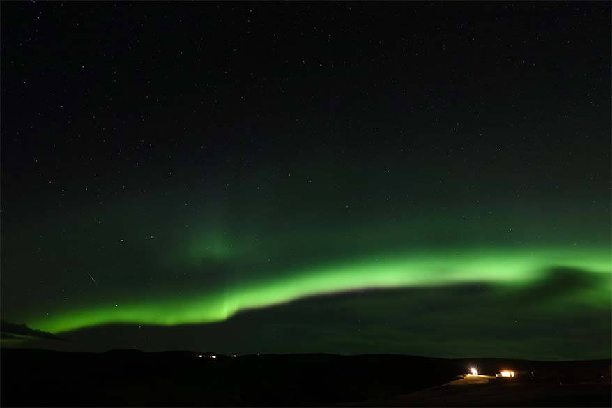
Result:
<svg viewBox="0 0 612 408"><path fill-rule="evenodd" d="M191 255L190 255L191 256ZM305 296L355 289L458 285L487 282L507 287L528 286L546 278L551 268L581 269L611 275L607 248L581 250L452 250L367 257L360 261L322 264L297 271L266 274L222 288L192 287L164 299L100 303L64 312L49 312L29 325L52 333L117 322L174 325L219 322L241 310L278 305ZM608 281L609 282L609 281ZM612 287L597 287L580 301L606 307Z"/></svg>

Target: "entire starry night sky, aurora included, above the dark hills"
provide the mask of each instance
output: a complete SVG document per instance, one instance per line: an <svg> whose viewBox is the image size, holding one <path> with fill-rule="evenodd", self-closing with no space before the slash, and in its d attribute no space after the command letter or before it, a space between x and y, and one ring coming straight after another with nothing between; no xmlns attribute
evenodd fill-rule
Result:
<svg viewBox="0 0 612 408"><path fill-rule="evenodd" d="M27 347L609 358L611 3L1 3Z"/></svg>

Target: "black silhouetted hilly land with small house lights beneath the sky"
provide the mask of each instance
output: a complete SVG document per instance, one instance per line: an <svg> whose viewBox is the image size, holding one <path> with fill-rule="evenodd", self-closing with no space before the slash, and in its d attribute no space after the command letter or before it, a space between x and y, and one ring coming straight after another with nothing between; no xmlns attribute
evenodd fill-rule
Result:
<svg viewBox="0 0 612 408"><path fill-rule="evenodd" d="M1 405L611 406L609 360L201 355L2 349ZM472 365L517 377L461 379Z"/></svg>

